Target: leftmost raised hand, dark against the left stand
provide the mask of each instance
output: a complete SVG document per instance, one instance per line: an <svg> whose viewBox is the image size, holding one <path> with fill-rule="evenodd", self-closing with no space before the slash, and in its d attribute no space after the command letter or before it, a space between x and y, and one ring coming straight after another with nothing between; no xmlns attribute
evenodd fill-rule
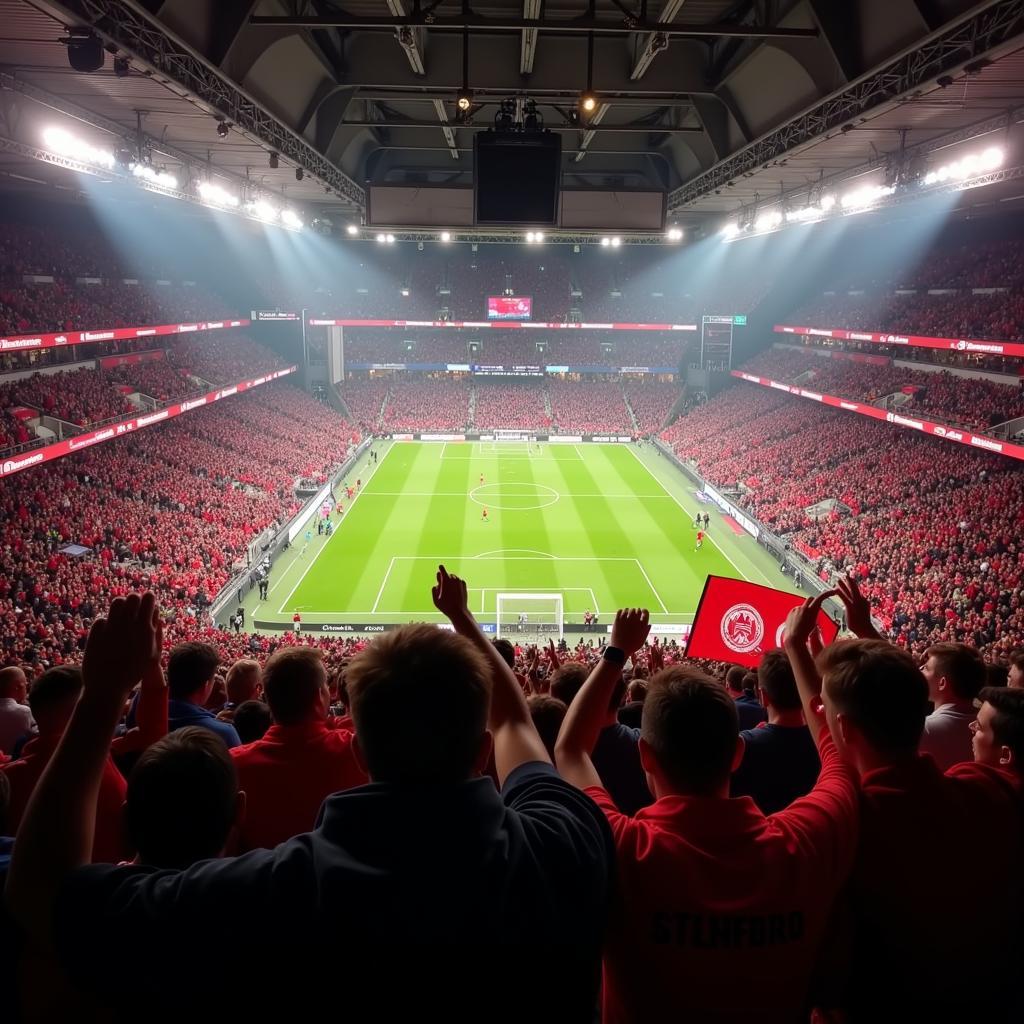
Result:
<svg viewBox="0 0 1024 1024"><path fill-rule="evenodd" d="M153 594L115 598L106 617L97 618L89 630L82 659L86 694L123 701L143 674L159 665L162 637Z"/></svg>

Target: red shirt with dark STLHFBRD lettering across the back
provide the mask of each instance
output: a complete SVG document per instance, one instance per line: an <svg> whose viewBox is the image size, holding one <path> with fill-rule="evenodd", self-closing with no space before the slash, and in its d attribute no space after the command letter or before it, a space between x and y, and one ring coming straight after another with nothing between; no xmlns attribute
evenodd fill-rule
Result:
<svg viewBox="0 0 1024 1024"><path fill-rule="evenodd" d="M750 797L672 796L631 818L604 790L587 790L617 854L604 1024L807 1019L858 819L853 774L827 730L818 748L817 784L767 817Z"/></svg>

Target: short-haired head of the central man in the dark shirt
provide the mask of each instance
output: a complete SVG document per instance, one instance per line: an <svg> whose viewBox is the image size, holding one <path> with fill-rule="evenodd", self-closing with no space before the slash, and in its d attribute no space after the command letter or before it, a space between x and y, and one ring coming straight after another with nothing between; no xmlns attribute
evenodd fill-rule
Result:
<svg viewBox="0 0 1024 1024"><path fill-rule="evenodd" d="M425 623L376 639L348 667L359 749L374 781L469 777L490 707L490 670L464 637Z"/></svg>

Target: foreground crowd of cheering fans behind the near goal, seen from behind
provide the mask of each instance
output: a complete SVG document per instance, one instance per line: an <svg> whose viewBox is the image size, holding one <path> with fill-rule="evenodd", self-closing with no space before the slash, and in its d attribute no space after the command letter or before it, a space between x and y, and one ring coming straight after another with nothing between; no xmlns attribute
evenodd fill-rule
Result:
<svg viewBox="0 0 1024 1024"><path fill-rule="evenodd" d="M496 992L503 1024L1017 1019L1024 654L1001 685L961 644L915 662L836 596L856 639L823 647L808 600L744 666L642 609L606 645L490 641L443 566L451 630L327 659L165 663L152 593L104 603L80 669L0 672L8 1016L306 1015L296 978L344 963L355 1020ZM168 985L198 934L218 970ZM524 948L558 969L510 985Z"/></svg>

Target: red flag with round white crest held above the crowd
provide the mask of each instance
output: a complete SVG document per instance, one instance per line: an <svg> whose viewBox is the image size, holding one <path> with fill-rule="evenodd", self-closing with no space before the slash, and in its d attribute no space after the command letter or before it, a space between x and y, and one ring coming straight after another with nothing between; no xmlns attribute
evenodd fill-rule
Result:
<svg viewBox="0 0 1024 1024"><path fill-rule="evenodd" d="M710 575L693 617L686 656L756 669L765 651L782 645L786 616L803 601L799 594ZM839 627L824 611L818 612L818 626L825 644L831 643Z"/></svg>

